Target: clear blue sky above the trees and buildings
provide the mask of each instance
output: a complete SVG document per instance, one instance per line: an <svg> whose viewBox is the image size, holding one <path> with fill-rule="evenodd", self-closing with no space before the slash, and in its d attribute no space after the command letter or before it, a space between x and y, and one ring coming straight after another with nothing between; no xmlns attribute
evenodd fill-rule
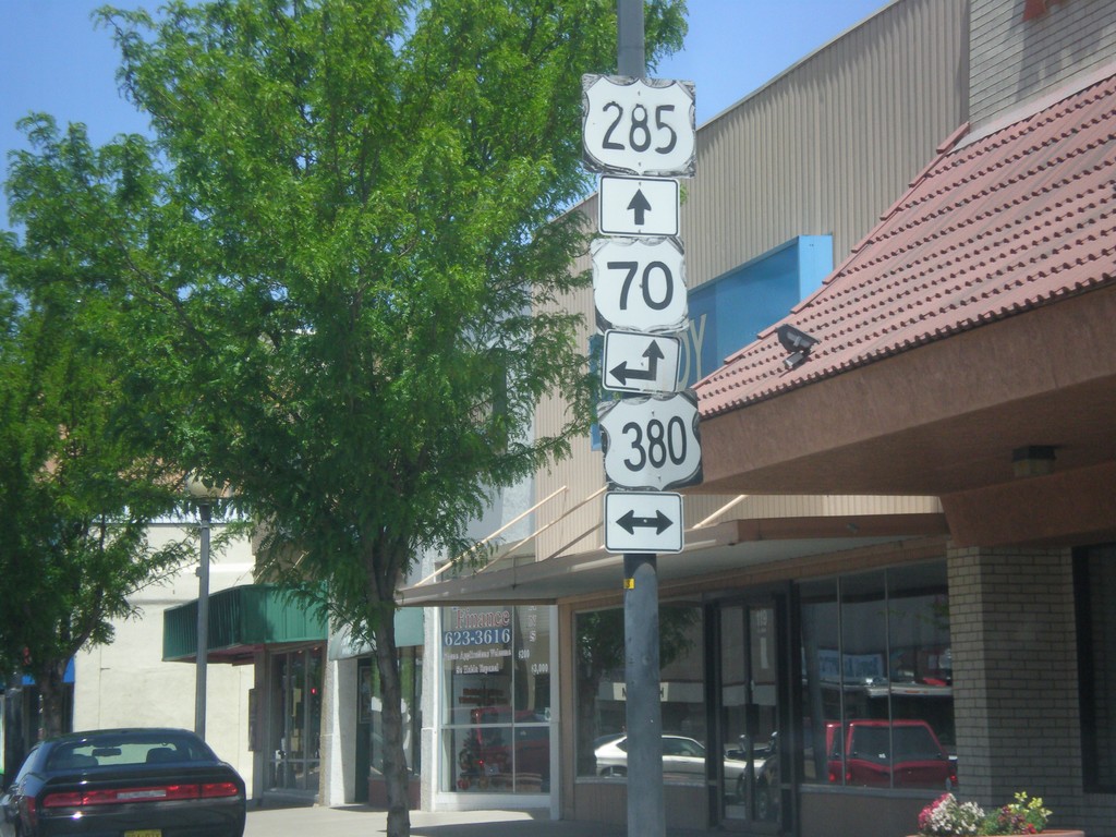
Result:
<svg viewBox="0 0 1116 837"><path fill-rule="evenodd" d="M32 110L85 123L95 144L143 132L146 119L118 94L118 55L90 12L105 0L0 0L0 162L27 143L16 122ZM695 85L698 122L706 122L889 0L690 0L684 50L660 78ZM158 0L116 0L156 8ZM0 227L8 227L0 195Z"/></svg>

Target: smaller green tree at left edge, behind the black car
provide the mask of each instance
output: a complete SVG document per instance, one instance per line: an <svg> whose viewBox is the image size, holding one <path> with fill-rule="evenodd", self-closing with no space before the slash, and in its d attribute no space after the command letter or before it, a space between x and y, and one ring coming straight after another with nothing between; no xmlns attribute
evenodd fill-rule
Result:
<svg viewBox="0 0 1116 837"><path fill-rule="evenodd" d="M22 241L0 237L0 657L35 676L47 734L62 732L62 675L112 642L129 596L190 556L147 540L175 488L121 434L122 247L138 138L94 151L80 126L25 121L32 152L7 183ZM143 167L141 165L141 167Z"/></svg>

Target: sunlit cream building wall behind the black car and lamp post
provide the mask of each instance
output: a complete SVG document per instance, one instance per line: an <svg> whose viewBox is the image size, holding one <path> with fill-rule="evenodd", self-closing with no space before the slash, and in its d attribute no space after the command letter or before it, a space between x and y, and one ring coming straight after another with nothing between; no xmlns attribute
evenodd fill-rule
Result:
<svg viewBox="0 0 1116 837"><path fill-rule="evenodd" d="M213 539L221 532L213 526ZM184 537L179 526L151 530L157 546ZM252 554L247 539L214 551L210 591L252 581ZM110 645L77 655L74 661L74 729L113 727L194 728L195 667L163 662L163 612L198 598L198 564L190 564L164 584L132 597L135 618L116 623ZM252 787L252 753L248 749L248 691L251 665L211 663L206 671L205 739Z"/></svg>

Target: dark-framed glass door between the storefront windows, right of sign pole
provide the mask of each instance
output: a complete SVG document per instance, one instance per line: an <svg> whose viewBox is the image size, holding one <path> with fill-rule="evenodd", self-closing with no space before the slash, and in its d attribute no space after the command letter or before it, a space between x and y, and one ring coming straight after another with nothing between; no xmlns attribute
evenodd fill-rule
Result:
<svg viewBox="0 0 1116 837"><path fill-rule="evenodd" d="M724 605L719 616L721 816L763 831L782 822L776 618L770 600Z"/></svg>

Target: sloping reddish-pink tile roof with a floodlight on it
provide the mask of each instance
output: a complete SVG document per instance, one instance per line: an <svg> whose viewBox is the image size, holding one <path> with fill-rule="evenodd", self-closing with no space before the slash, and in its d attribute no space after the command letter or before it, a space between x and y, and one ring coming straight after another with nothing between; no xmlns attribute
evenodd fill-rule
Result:
<svg viewBox="0 0 1116 837"><path fill-rule="evenodd" d="M775 324L696 385L703 415L1114 281L1116 76L975 142L965 131L782 320L819 340L806 362L785 368Z"/></svg>

